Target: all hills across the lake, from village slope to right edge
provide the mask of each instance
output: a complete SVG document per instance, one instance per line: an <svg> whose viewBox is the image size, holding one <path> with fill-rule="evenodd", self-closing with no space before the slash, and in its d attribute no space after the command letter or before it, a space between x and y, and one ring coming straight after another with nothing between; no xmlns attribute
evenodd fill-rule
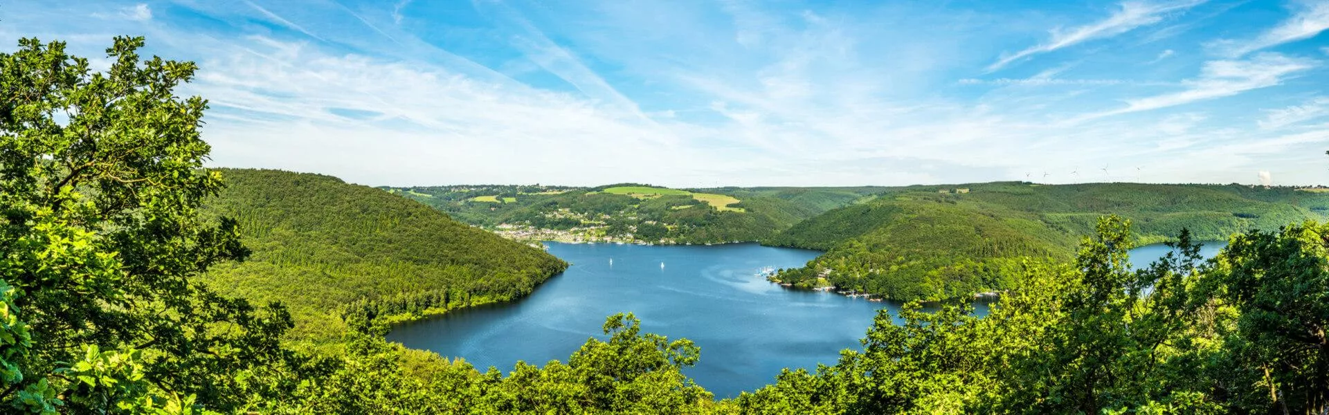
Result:
<svg viewBox="0 0 1329 415"><path fill-rule="evenodd" d="M766 245L824 250L776 281L900 301L1010 286L1019 258L1070 259L1107 214L1139 243L1324 219L1329 193L1248 185L989 182L901 188L383 188L517 239Z"/></svg>

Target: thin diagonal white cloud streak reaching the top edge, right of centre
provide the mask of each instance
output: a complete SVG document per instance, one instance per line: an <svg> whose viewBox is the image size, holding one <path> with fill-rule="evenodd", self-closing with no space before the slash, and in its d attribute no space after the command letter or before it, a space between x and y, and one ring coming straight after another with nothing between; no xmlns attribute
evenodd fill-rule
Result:
<svg viewBox="0 0 1329 415"><path fill-rule="evenodd" d="M1170 3L1124 1L1119 4L1120 9L1100 21L1070 29L1053 29L1053 36L1046 43L1033 45L1015 53L1005 55L991 65L987 65L987 72L998 70L1017 60L1038 53L1053 52L1095 39L1112 37L1139 27L1151 25L1163 21L1163 17L1167 13L1188 9L1204 1L1205 0Z"/></svg>

